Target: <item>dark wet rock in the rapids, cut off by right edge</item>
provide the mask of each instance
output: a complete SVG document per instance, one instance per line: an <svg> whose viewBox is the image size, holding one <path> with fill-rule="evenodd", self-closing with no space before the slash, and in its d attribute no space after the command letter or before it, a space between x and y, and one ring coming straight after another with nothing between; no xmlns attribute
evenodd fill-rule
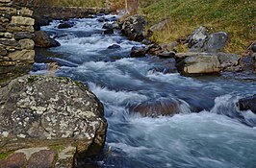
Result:
<svg viewBox="0 0 256 168"><path fill-rule="evenodd" d="M256 114L256 94L250 97L240 99L237 103L240 110L251 110Z"/></svg>

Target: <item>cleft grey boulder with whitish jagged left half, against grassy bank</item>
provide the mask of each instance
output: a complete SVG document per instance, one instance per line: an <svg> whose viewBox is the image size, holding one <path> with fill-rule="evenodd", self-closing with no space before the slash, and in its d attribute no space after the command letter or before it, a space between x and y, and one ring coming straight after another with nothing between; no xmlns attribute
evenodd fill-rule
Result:
<svg viewBox="0 0 256 168"><path fill-rule="evenodd" d="M205 27L200 27L187 38L190 52L218 53L228 42L228 35L224 32L209 35Z"/></svg>

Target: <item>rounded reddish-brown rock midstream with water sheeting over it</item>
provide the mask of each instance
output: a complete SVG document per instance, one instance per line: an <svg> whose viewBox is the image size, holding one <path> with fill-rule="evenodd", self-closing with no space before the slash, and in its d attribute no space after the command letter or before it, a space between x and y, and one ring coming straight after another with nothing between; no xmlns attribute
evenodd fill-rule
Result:
<svg viewBox="0 0 256 168"><path fill-rule="evenodd" d="M132 108L132 111L140 113L143 117L173 116L181 112L180 105L177 100L160 98L143 102Z"/></svg>

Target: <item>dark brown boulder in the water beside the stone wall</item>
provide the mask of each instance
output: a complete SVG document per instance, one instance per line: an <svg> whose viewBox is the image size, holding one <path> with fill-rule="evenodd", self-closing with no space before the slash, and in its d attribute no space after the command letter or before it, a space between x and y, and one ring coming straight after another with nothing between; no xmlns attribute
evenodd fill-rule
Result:
<svg viewBox="0 0 256 168"><path fill-rule="evenodd" d="M48 36L44 31L36 32L33 40L35 41L35 46L39 48L58 47L61 45L57 40Z"/></svg>

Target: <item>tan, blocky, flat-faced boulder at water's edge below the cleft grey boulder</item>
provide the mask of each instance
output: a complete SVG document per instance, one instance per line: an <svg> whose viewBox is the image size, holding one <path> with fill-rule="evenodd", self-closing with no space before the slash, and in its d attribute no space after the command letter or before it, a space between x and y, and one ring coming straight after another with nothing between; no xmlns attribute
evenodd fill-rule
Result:
<svg viewBox="0 0 256 168"><path fill-rule="evenodd" d="M216 55L189 53L188 56L186 59L177 62L177 68L181 74L211 74L220 72L220 62Z"/></svg>

